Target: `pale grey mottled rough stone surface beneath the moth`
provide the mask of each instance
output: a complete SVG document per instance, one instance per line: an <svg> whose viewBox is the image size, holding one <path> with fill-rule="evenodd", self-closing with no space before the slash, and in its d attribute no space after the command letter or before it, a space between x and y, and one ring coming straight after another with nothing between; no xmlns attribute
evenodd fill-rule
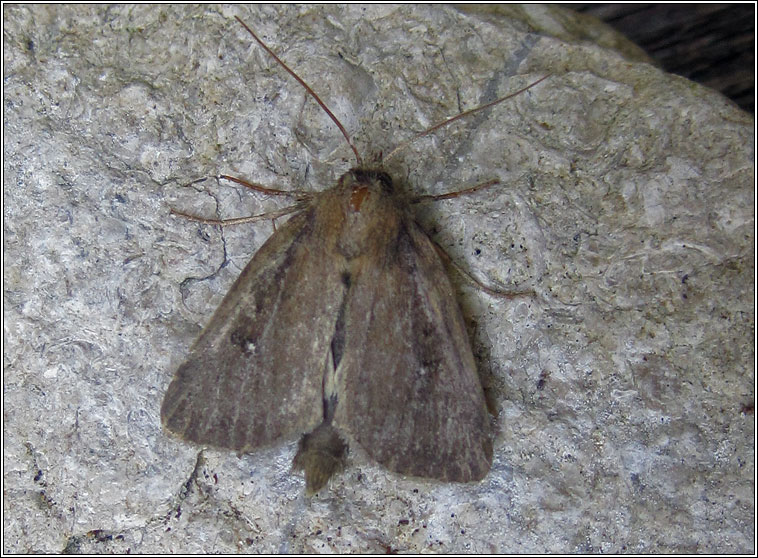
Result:
<svg viewBox="0 0 758 558"><path fill-rule="evenodd" d="M237 456L160 427L163 393L271 233L352 152L423 138L409 191L498 417L480 483L352 452L314 499L296 440ZM5 6L5 552L753 552L753 120L555 7ZM593 42L600 38L602 44Z"/></svg>

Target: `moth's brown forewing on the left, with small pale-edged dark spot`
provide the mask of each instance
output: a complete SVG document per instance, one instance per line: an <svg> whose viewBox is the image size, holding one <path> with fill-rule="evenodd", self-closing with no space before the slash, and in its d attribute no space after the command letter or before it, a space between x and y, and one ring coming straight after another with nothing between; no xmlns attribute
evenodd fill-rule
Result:
<svg viewBox="0 0 758 558"><path fill-rule="evenodd" d="M255 254L176 372L161 407L182 438L238 451L312 430L345 287L313 205Z"/></svg>

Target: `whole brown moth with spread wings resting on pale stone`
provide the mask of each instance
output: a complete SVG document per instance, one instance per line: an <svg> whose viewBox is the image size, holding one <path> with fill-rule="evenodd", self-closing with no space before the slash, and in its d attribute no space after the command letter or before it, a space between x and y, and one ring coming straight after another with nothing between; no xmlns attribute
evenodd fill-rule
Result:
<svg viewBox="0 0 758 558"><path fill-rule="evenodd" d="M164 427L239 453L299 437L293 465L309 494L354 445L403 475L482 479L490 416L440 249L390 175L363 165L321 99L237 20L329 114L358 164L286 211L176 371Z"/></svg>

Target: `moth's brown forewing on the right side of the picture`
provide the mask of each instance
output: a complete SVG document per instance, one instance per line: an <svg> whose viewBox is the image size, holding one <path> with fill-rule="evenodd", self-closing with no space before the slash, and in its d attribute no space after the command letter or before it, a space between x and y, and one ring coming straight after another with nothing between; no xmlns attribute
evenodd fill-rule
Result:
<svg viewBox="0 0 758 558"><path fill-rule="evenodd" d="M369 260L345 300L335 426L390 470L483 478L492 460L489 415L434 245L404 218L396 241Z"/></svg>

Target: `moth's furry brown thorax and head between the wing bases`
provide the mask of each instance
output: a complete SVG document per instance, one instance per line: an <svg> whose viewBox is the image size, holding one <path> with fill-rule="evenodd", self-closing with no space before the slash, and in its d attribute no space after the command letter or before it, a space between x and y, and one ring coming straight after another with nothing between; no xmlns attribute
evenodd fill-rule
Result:
<svg viewBox="0 0 758 558"><path fill-rule="evenodd" d="M392 178L382 170L351 169L330 191L333 215L339 227L337 250L347 259L388 246L396 236L403 209Z"/></svg>

